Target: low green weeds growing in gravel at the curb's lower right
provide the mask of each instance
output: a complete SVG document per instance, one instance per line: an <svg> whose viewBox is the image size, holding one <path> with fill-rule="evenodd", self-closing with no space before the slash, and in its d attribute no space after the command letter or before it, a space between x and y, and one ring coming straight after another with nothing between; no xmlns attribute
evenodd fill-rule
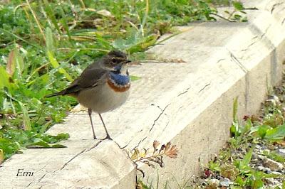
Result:
<svg viewBox="0 0 285 189"><path fill-rule="evenodd" d="M284 84L279 87L284 93ZM282 94L278 94L281 97ZM276 96L275 96L276 97ZM253 116L245 116L244 123L237 121L237 99L234 100L234 121L231 127L232 138L226 148L223 148L219 156L209 162L208 168L215 175L222 175L233 181L231 188L264 188L266 187L266 178L279 178L284 180L284 175L275 175L273 173L264 173L257 171L250 166L255 146L257 144L266 146L263 151L264 156L271 158L279 163L284 163L285 158L274 151L274 146L282 148L285 139L284 122L284 101L279 99L272 100L264 104L261 112ZM269 148L271 150L269 150ZM237 151L247 151L240 157ZM255 152L257 154L257 152ZM285 183L283 182L283 185ZM210 185L209 185L210 187Z"/></svg>

